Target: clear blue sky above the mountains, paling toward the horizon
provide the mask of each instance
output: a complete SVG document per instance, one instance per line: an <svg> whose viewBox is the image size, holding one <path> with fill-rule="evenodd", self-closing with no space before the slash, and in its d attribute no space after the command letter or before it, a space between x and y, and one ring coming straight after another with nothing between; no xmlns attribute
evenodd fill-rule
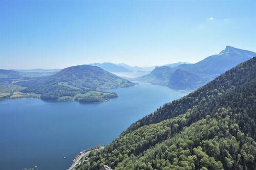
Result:
<svg viewBox="0 0 256 170"><path fill-rule="evenodd" d="M256 1L1 1L2 69L198 62L256 52Z"/></svg>

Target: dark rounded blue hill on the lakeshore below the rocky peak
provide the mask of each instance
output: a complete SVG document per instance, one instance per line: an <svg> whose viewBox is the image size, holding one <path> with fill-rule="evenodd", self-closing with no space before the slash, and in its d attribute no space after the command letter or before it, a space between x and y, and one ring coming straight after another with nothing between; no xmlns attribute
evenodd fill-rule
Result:
<svg viewBox="0 0 256 170"><path fill-rule="evenodd" d="M169 77L168 87L178 90L193 90L202 84L203 79L183 69L177 69Z"/></svg>

